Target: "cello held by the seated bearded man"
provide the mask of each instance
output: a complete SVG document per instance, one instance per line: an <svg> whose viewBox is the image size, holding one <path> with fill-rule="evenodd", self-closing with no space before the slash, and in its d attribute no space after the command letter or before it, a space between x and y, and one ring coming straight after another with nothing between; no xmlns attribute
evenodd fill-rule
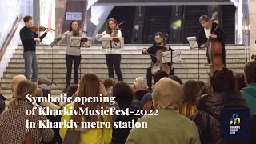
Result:
<svg viewBox="0 0 256 144"><path fill-rule="evenodd" d="M166 45L166 40L164 45ZM166 50L166 47L163 46L162 49L158 50L155 54L155 57L157 58L157 62L154 63L154 65L151 67L151 74L154 75L154 73L158 70L165 71L168 75L170 74L170 66L168 66L166 63L162 63L162 52L168 51ZM172 52L171 52L172 54ZM172 57L172 56L171 56Z"/></svg>

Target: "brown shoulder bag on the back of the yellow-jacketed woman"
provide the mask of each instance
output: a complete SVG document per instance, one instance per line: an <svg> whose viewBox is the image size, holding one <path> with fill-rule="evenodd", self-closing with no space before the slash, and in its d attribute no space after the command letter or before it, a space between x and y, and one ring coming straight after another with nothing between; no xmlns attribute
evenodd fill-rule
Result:
<svg viewBox="0 0 256 144"><path fill-rule="evenodd" d="M70 116L71 119L71 116ZM79 144L81 131L67 129L63 144Z"/></svg>

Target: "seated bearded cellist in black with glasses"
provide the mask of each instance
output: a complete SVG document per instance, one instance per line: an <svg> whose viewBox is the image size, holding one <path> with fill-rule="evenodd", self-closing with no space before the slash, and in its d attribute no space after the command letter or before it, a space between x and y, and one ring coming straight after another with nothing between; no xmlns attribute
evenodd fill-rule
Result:
<svg viewBox="0 0 256 144"><path fill-rule="evenodd" d="M153 44L153 46L150 46L148 49L146 48L142 49L142 54L150 54L151 61L152 61L151 64L155 64L157 62L157 58L155 57L155 55L158 50L162 50L162 49L165 49L168 51L172 50L170 46L165 46L164 38L165 38L164 34L162 34L161 32L158 32L154 34L155 44ZM168 63L168 66L171 67L171 64ZM151 68L152 68L152 65L148 67L146 70L146 80L147 80L147 86L149 91L152 91ZM172 75L172 74L174 74L174 69L170 70L169 75Z"/></svg>

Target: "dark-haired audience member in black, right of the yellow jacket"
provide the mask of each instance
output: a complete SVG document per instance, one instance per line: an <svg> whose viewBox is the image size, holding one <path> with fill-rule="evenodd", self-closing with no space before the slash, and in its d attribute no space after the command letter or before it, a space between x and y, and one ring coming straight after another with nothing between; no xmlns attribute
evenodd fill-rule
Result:
<svg viewBox="0 0 256 144"><path fill-rule="evenodd" d="M131 87L126 82L118 82L113 86L113 95L116 97L115 100L118 102L120 110L129 109L130 111L142 110L142 103L134 102L134 93ZM115 122L137 122L140 115L130 113L129 115L119 115ZM111 144L125 143L126 138L130 133L130 129L116 128L113 129L112 142Z"/></svg>

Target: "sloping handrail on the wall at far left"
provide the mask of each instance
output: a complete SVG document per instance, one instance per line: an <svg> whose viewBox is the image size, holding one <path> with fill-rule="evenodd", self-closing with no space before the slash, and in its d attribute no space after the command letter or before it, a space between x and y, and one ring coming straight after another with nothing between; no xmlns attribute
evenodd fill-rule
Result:
<svg viewBox="0 0 256 144"><path fill-rule="evenodd" d="M0 50L0 62L2 61L3 55L6 53L6 50L10 44L10 41L12 40L12 38L14 38L14 34L15 34L16 30L18 29L18 25L21 21L22 21L22 14L20 14L19 17L17 17L17 19L14 23L14 28L7 35L6 41L2 45L2 48Z"/></svg>

